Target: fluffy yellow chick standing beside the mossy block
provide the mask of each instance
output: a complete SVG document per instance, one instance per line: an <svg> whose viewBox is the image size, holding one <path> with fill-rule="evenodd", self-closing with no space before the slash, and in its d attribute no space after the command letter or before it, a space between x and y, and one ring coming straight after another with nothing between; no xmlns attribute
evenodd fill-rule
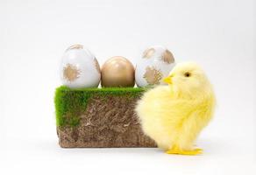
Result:
<svg viewBox="0 0 256 175"><path fill-rule="evenodd" d="M210 81L192 62L175 66L164 81L169 86L147 91L138 102L142 130L168 154L201 154L194 142L215 109Z"/></svg>

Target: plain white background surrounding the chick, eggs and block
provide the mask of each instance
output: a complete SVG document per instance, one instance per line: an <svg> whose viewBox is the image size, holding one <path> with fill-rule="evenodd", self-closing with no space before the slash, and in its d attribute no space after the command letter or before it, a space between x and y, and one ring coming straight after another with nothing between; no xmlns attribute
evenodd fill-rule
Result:
<svg viewBox="0 0 256 175"><path fill-rule="evenodd" d="M101 65L150 45L202 65L217 112L202 156L158 149L60 149L53 95L60 57L82 44ZM0 0L0 174L255 174L255 0Z"/></svg>

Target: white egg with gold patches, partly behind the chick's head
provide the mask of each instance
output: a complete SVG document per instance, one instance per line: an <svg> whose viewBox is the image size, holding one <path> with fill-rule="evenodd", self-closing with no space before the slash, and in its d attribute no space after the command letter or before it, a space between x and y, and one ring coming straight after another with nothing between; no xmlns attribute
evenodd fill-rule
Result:
<svg viewBox="0 0 256 175"><path fill-rule="evenodd" d="M138 87L165 84L166 77L175 65L172 52L163 46L152 46L146 49L135 69L135 81Z"/></svg>

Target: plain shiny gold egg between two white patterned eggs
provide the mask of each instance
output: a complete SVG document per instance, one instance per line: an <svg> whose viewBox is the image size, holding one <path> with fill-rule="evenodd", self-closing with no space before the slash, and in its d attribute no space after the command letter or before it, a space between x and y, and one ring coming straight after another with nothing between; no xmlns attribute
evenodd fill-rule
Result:
<svg viewBox="0 0 256 175"><path fill-rule="evenodd" d="M108 59L102 67L102 87L133 87L134 66L121 56Z"/></svg>

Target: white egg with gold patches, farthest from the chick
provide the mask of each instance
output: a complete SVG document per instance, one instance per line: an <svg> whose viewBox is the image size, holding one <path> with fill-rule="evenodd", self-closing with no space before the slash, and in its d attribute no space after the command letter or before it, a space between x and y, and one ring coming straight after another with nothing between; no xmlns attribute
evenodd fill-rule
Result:
<svg viewBox="0 0 256 175"><path fill-rule="evenodd" d="M69 88L96 88L101 70L95 56L82 45L71 45L60 64L60 78Z"/></svg>

